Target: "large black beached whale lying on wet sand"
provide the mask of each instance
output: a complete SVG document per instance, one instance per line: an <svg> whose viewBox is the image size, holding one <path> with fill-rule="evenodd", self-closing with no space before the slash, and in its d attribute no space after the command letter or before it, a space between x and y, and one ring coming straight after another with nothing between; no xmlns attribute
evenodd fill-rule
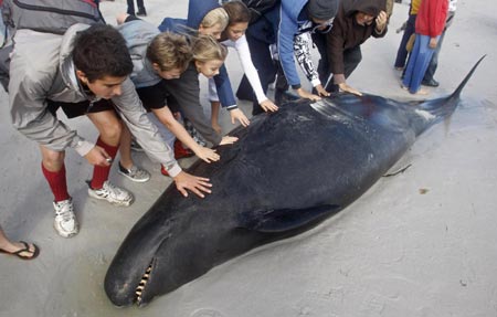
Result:
<svg viewBox="0 0 497 317"><path fill-rule="evenodd" d="M107 271L107 296L117 306L147 304L342 210L416 136L454 112L478 63L445 98L400 103L339 94L254 117L250 127L232 133L236 144L219 148L220 161L189 169L211 179L212 194L184 199L170 186L135 224Z"/></svg>

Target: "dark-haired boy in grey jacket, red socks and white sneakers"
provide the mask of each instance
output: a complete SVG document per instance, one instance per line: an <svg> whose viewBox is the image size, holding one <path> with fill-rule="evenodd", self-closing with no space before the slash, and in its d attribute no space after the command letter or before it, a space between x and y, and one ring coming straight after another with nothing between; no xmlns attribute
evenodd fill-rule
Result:
<svg viewBox="0 0 497 317"><path fill-rule="evenodd" d="M107 179L116 156L121 123L147 155L166 166L178 190L200 197L210 192L209 179L188 175L160 138L129 80L133 63L126 42L109 25L74 24L62 36L18 30L10 64L9 96L14 127L40 145L42 171L54 194L54 228L64 237L78 232L67 192L64 157L73 148L95 166L88 194L117 205L133 196ZM35 54L33 54L35 52ZM68 118L86 115L99 131L95 144L56 118L61 107Z"/></svg>

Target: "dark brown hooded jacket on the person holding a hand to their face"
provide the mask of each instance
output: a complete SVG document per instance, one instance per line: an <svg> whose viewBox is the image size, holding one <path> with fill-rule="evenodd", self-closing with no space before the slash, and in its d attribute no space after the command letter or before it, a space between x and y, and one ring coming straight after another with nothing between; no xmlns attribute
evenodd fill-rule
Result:
<svg viewBox="0 0 497 317"><path fill-rule="evenodd" d="M387 33L387 27L382 33L376 31L374 20L370 25L359 25L356 13L360 11L377 17L384 10L385 0L349 0L340 3L334 27L326 35L331 73L343 74L343 51L364 43L370 36L383 38Z"/></svg>

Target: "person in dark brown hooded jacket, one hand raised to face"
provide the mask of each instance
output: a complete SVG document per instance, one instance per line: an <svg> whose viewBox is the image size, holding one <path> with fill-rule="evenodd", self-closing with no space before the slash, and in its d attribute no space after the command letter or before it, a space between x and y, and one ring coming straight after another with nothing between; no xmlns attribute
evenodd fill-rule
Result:
<svg viewBox="0 0 497 317"><path fill-rule="evenodd" d="M325 42L317 46L326 46L326 52L321 52L319 75L325 83L331 76L326 85L328 92L341 89L362 95L346 80L362 60L361 44L370 36L378 39L387 34L387 21L384 0L349 0L340 3L329 33L313 34L316 43Z"/></svg>

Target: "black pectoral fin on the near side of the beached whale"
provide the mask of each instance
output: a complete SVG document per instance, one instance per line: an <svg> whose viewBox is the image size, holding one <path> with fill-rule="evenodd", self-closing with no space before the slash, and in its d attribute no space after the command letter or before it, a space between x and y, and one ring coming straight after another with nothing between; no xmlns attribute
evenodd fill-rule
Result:
<svg viewBox="0 0 497 317"><path fill-rule="evenodd" d="M307 209L251 211L240 215L240 226L260 232L283 232L310 224L339 210L339 205L325 204Z"/></svg>

